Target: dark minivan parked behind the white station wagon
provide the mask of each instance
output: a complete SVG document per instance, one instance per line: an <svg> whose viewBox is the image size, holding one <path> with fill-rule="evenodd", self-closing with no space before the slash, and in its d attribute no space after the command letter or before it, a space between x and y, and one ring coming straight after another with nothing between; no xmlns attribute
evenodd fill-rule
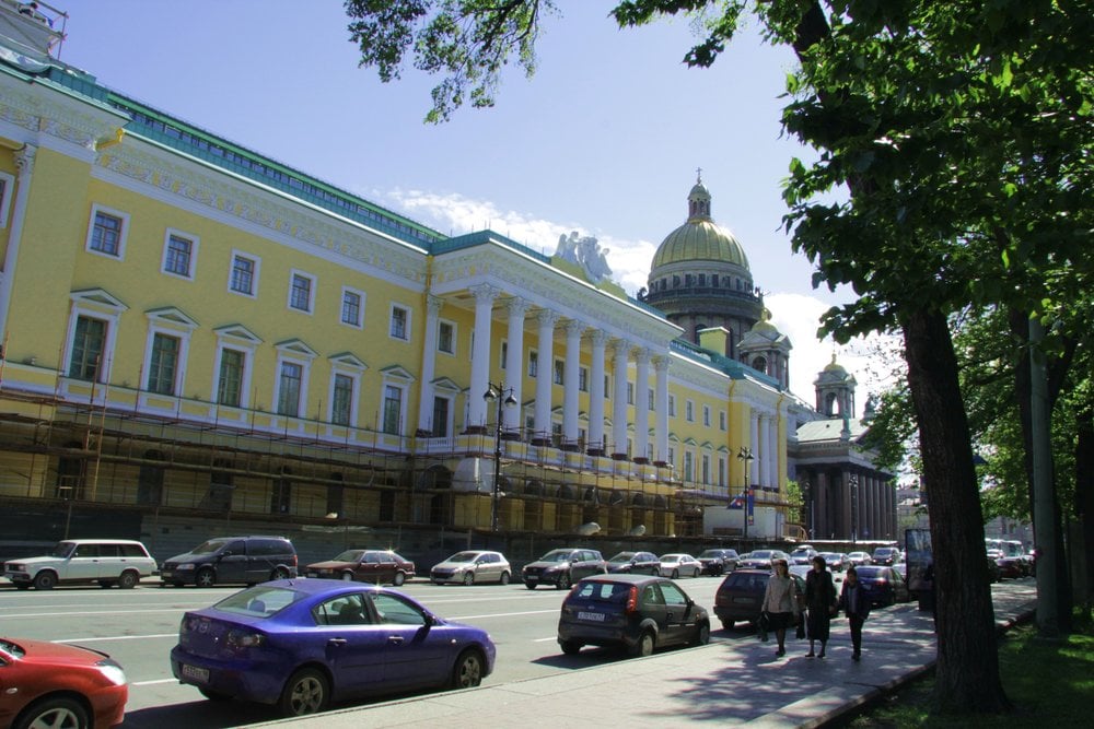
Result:
<svg viewBox="0 0 1094 729"><path fill-rule="evenodd" d="M164 584L257 585L296 576L296 548L284 537L218 537L160 565Z"/></svg>

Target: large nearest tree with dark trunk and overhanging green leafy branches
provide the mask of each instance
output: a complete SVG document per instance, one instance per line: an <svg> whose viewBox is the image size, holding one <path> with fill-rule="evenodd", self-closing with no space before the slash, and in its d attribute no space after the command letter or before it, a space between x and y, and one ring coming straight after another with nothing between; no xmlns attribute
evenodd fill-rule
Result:
<svg viewBox="0 0 1094 729"><path fill-rule="evenodd" d="M388 22L386 4L347 2L362 63L391 80L412 48L419 69L449 73L431 121L468 93L489 106L514 50L532 73L554 10L548 0L419 0ZM685 61L709 66L744 12L738 0L628 0L613 14L620 25L693 16L706 37ZM994 305L1052 332L1058 297L1090 283L1090 221L1073 211L1089 208L1092 181L1094 15L1073 0L760 0L752 12L799 56L783 122L821 152L792 167L792 245L815 263L815 285L860 296L830 310L823 330L904 339L931 494L939 708L1004 710L951 321ZM821 201L834 190L846 202Z"/></svg>

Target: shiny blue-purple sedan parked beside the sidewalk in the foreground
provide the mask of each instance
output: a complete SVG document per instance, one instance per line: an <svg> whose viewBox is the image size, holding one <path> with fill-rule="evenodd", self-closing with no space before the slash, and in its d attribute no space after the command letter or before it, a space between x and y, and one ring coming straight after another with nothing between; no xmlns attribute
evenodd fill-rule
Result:
<svg viewBox="0 0 1094 729"><path fill-rule="evenodd" d="M333 701L477 686L496 652L486 631L440 618L399 590L282 579L187 611L171 671L207 698L303 716Z"/></svg>

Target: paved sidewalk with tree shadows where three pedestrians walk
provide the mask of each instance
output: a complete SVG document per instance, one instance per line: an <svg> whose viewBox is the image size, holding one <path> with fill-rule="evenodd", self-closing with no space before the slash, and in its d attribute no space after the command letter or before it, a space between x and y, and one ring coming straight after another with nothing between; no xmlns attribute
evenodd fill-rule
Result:
<svg viewBox="0 0 1094 729"><path fill-rule="evenodd" d="M1012 625L1034 609L1034 581L994 591L996 620ZM340 729L368 726L430 729L539 727L663 728L720 724L789 729L819 727L928 670L934 628L915 602L875 610L862 637L862 660L851 660L847 621L833 621L828 657L805 658L808 644L787 639L776 658L773 639L721 639L710 645L617 660L514 683L451 691L357 706L266 725Z"/></svg>

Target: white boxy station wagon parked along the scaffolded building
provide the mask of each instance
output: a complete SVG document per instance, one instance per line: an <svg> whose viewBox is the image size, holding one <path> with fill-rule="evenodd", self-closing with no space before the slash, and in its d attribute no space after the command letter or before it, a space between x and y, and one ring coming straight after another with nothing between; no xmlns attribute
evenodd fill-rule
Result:
<svg viewBox="0 0 1094 729"><path fill-rule="evenodd" d="M129 589L156 573L155 560L140 542L129 539L66 539L46 556L4 563L3 576L21 589L98 583Z"/></svg>

